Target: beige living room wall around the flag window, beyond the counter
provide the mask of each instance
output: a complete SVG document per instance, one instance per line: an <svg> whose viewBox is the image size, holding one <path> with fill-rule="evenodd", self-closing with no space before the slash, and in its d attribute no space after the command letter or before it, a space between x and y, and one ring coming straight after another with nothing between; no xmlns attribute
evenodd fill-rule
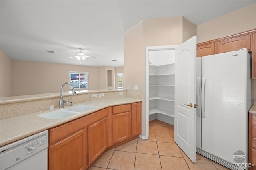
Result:
<svg viewBox="0 0 256 170"><path fill-rule="evenodd" d="M88 90L113 89L116 82L115 70L124 73L124 67L88 67L12 60L2 50L0 63L0 97L59 92L62 83L69 81L69 71L89 72ZM112 87L107 86L107 70L112 70ZM70 91L68 85L64 86L64 91Z"/></svg>

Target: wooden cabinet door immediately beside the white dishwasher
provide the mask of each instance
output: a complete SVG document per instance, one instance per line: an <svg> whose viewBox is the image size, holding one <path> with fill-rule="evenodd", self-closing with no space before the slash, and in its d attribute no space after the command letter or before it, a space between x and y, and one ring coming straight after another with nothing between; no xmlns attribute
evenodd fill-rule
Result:
<svg viewBox="0 0 256 170"><path fill-rule="evenodd" d="M88 167L87 128L49 147L49 170L85 170Z"/></svg>

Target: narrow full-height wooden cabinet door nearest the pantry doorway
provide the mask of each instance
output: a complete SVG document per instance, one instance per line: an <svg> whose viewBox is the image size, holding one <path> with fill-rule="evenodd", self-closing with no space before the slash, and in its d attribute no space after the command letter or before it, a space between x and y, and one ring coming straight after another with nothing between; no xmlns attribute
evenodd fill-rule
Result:
<svg viewBox="0 0 256 170"><path fill-rule="evenodd" d="M141 102L132 103L132 136L141 133Z"/></svg>

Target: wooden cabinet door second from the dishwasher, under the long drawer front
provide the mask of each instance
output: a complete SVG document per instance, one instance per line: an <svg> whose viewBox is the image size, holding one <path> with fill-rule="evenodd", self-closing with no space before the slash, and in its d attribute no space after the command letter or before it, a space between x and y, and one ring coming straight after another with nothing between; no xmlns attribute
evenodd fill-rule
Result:
<svg viewBox="0 0 256 170"><path fill-rule="evenodd" d="M89 165L107 148L108 118L88 127Z"/></svg>

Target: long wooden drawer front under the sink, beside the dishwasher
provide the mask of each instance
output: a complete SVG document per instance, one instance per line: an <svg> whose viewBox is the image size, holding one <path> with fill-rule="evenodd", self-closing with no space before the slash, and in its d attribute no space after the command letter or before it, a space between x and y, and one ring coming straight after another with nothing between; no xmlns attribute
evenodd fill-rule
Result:
<svg viewBox="0 0 256 170"><path fill-rule="evenodd" d="M49 130L49 144L53 144L62 138L65 138L78 130L108 116L108 108L102 109L90 115L76 119L64 125Z"/></svg>

